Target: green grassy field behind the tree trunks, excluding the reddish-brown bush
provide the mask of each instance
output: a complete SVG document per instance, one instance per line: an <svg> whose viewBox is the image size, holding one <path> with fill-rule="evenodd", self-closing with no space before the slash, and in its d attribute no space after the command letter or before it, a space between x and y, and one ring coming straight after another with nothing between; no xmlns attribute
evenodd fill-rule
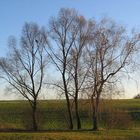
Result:
<svg viewBox="0 0 140 140"><path fill-rule="evenodd" d="M103 101L101 106L107 110L112 108L115 110L121 109L122 112L127 111L131 116L133 128L140 128L140 100L130 99ZM87 101L80 101L79 108L82 128L92 128L90 104ZM41 130L67 128L65 101L40 101L38 110L39 127ZM100 110L102 110L102 108ZM104 111L104 113L106 113L106 111ZM108 112L106 114L108 114ZM104 114L102 113L101 116L104 116ZM103 118L102 120L105 119ZM31 118L28 102L0 101L0 129L30 129L31 124L29 122L31 122ZM100 124L101 127L103 127L102 124L103 123Z"/></svg>

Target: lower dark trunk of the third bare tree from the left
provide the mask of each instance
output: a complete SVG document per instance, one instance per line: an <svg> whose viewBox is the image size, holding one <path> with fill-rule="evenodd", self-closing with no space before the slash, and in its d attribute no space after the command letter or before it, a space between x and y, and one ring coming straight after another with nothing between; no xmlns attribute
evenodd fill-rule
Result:
<svg viewBox="0 0 140 140"><path fill-rule="evenodd" d="M76 116L76 121L77 121L77 129L81 129L81 121L79 117L79 112L78 112L78 101L75 99L75 116Z"/></svg>

